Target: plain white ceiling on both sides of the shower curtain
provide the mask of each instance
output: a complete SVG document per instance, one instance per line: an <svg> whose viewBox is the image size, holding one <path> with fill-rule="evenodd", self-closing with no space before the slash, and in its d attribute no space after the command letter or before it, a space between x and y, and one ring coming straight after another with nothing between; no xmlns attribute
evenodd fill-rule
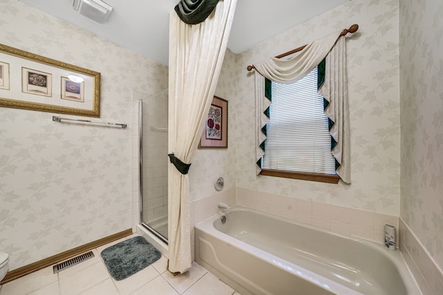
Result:
<svg viewBox="0 0 443 295"><path fill-rule="evenodd" d="M105 24L73 10L73 0L20 0L168 65L169 12L179 0L105 0L114 9ZM228 48L242 53L255 44L350 0L238 0Z"/></svg>

